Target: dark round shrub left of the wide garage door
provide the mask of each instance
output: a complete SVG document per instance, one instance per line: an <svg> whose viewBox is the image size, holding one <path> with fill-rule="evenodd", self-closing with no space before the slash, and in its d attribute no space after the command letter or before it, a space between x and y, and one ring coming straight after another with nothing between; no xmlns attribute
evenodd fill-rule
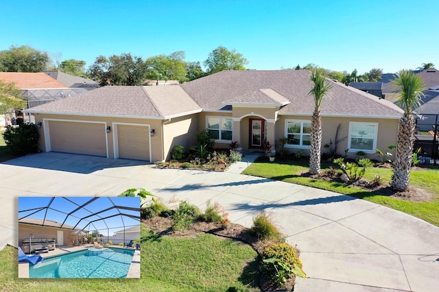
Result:
<svg viewBox="0 0 439 292"><path fill-rule="evenodd" d="M11 152L27 155L38 152L38 128L36 124L23 123L19 127L8 127L3 139Z"/></svg>

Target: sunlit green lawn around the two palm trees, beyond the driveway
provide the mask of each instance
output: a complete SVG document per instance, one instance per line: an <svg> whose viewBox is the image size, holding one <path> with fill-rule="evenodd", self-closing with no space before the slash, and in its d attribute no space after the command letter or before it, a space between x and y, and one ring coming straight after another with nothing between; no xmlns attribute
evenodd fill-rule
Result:
<svg viewBox="0 0 439 292"><path fill-rule="evenodd" d="M329 164L323 164L322 170L329 168ZM298 175L300 171L308 170L308 164L303 162L287 163L268 163L255 162L250 165L244 174L252 176L261 176L264 178L272 178L277 181L285 181L287 183L296 183L298 185L307 185L319 189L327 189L340 194L354 196L375 202L383 206L396 209L407 214L418 217L422 220L439 226L439 169L426 168L425 170L412 170L410 173L410 184L422 187L436 194L436 199L431 202L407 202L387 196L374 194L363 189L346 186L343 183L334 183L328 181L319 181L313 178L307 178ZM385 183L390 183L392 170L388 168L368 168L365 178L372 179L375 175L381 176Z"/></svg>

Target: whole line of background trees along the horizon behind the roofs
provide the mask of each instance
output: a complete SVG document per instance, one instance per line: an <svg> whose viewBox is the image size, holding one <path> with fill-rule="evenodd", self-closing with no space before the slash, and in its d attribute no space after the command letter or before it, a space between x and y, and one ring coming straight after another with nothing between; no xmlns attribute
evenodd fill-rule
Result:
<svg viewBox="0 0 439 292"><path fill-rule="evenodd" d="M211 75L222 70L248 70L248 59L235 49L229 50L219 46L211 51L202 63L186 61L185 51L176 51L170 55L156 55L143 59L131 53L121 55L96 57L95 62L87 69L86 62L77 59L67 59L59 62L60 53L49 57L47 52L39 51L29 46L12 46L0 51L0 72L40 72L43 70L60 70L67 74L93 79L101 85L143 85L146 79L177 80L180 83ZM284 70L313 70L315 64L297 65L295 68ZM423 63L417 70L434 67L432 63ZM348 73L322 68L324 76L348 84L351 82L377 82L381 79L383 70L372 68L369 72L359 75L357 69Z"/></svg>

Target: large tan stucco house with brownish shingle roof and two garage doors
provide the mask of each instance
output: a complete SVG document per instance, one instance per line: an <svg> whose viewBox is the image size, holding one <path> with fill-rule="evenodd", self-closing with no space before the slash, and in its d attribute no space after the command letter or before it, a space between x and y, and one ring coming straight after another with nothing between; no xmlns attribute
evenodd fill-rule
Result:
<svg viewBox="0 0 439 292"><path fill-rule="evenodd" d="M40 150L163 161L176 145L195 145L209 129L215 148L232 141L262 150L287 137L285 149L309 151L313 97L307 70L218 72L173 86L106 86L27 109L40 127ZM331 81L321 107L322 144L370 155L396 144L403 111L393 103ZM323 148L322 151L327 151Z"/></svg>

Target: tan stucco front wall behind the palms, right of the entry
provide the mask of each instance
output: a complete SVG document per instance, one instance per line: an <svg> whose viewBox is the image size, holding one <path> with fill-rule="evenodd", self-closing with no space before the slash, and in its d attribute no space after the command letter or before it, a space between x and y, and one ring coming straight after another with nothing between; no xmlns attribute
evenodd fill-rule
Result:
<svg viewBox="0 0 439 292"><path fill-rule="evenodd" d="M280 150L281 145L278 140L286 135L285 121L286 120L311 120L311 116L279 116L279 120L276 122L276 149ZM348 149L348 135L350 122L364 122L377 124L377 147L385 151L388 146L396 144L396 132L398 129L397 119L379 119L379 118L345 118L345 117L322 117L322 153L329 153L329 148L324 148L325 144L332 142L332 147L335 143L335 134L337 127L340 124L337 140L337 153L344 155L344 151ZM296 152L296 150L305 150L305 154L309 154L309 147L285 145L285 148L289 152ZM348 157L355 158L357 150L351 150L348 152ZM375 150L367 153L367 157L370 159L377 159Z"/></svg>

